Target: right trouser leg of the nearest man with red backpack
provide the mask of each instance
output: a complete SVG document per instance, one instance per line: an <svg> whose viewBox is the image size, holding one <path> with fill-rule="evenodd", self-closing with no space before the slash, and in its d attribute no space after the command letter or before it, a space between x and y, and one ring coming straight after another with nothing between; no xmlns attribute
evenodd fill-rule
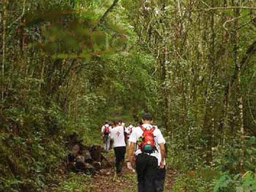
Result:
<svg viewBox="0 0 256 192"><path fill-rule="evenodd" d="M148 155L146 161L146 169L145 169L145 191L147 192L155 192L155 179L157 173L157 158Z"/></svg>

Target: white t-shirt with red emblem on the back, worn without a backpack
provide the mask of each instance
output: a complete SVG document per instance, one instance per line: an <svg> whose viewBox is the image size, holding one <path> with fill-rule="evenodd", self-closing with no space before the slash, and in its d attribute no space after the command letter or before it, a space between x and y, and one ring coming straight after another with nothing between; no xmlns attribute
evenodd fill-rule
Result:
<svg viewBox="0 0 256 192"><path fill-rule="evenodd" d="M114 140L113 147L125 147L123 126L112 128L110 138Z"/></svg>

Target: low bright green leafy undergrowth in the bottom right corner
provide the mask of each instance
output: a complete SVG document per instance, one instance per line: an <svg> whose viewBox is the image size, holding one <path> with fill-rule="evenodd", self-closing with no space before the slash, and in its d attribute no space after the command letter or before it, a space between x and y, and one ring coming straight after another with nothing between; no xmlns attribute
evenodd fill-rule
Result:
<svg viewBox="0 0 256 192"><path fill-rule="evenodd" d="M209 175L211 176L209 177ZM248 171L243 175L230 175L228 173L218 173L209 170L206 167L201 171L178 174L173 186L174 191L239 192L254 191L255 189L255 174L251 171Z"/></svg>

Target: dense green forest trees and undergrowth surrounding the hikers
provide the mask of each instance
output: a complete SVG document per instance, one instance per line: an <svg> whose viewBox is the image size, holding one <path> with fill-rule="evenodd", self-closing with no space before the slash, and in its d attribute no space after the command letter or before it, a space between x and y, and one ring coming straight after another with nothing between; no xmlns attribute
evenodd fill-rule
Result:
<svg viewBox="0 0 256 192"><path fill-rule="evenodd" d="M254 0L0 9L0 191L89 191L57 176L67 136L101 145L106 119L136 124L143 111L168 144L176 175L166 191L256 190Z"/></svg>

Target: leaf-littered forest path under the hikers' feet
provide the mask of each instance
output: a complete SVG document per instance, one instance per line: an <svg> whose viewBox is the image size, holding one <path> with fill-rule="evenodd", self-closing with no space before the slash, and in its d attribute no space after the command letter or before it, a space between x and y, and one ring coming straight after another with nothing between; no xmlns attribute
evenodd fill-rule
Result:
<svg viewBox="0 0 256 192"><path fill-rule="evenodd" d="M84 174L59 175L59 183L45 190L50 191L94 191L94 192L128 192L137 191L137 175L124 166L121 176L115 175L114 155L108 154L108 160L113 165L105 167L96 173L95 176ZM172 170L167 169L165 180L165 191L172 191L174 175Z"/></svg>

